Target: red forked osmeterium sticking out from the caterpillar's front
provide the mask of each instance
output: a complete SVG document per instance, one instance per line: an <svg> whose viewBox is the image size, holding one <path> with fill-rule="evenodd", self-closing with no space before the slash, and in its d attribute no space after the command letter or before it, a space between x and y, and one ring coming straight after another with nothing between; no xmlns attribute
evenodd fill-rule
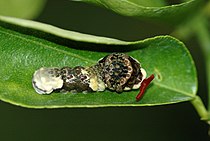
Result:
<svg viewBox="0 0 210 141"><path fill-rule="evenodd" d="M136 96L136 101L139 101L143 95L144 95L144 92L147 88L147 86L150 84L150 82L155 78L154 74L152 74L149 78L146 78L143 80L143 82L141 83L141 86L140 86L140 92L139 94Z"/></svg>

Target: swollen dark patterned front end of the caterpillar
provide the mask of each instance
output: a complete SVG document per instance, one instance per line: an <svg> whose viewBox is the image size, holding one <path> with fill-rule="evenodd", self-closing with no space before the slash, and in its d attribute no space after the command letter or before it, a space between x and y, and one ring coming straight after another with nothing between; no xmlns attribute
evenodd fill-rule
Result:
<svg viewBox="0 0 210 141"><path fill-rule="evenodd" d="M123 53L112 53L98 61L107 88L116 92L138 89L146 78L140 63Z"/></svg>

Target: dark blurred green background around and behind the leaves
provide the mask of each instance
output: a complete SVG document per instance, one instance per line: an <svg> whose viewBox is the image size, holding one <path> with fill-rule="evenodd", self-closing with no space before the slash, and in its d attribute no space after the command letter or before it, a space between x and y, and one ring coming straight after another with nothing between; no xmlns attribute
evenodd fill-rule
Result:
<svg viewBox="0 0 210 141"><path fill-rule="evenodd" d="M94 5L48 0L36 21L82 33L140 40L170 34L169 24L141 21ZM198 70L206 103L204 60L195 37L185 43ZM189 102L157 107L27 109L0 102L2 141L207 141L208 125Z"/></svg>

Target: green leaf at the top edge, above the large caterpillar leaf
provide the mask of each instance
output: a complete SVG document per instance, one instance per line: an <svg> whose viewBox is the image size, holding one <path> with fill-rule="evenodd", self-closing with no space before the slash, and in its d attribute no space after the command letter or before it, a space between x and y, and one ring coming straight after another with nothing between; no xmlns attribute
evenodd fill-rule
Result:
<svg viewBox="0 0 210 141"><path fill-rule="evenodd" d="M76 0L105 7L118 14L139 19L181 22L196 13L203 0L189 0L180 4L164 6L164 2L155 0Z"/></svg>

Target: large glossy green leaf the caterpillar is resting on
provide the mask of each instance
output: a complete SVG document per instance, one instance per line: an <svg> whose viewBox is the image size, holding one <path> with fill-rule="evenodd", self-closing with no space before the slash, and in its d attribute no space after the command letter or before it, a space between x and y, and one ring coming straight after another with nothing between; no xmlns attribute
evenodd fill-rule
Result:
<svg viewBox="0 0 210 141"><path fill-rule="evenodd" d="M148 75L155 74L139 102L138 90L39 95L32 87L40 67L89 66L118 51L139 60ZM192 100L197 92L194 62L184 44L170 36L125 42L0 17L0 54L0 99L24 107L151 106Z"/></svg>

